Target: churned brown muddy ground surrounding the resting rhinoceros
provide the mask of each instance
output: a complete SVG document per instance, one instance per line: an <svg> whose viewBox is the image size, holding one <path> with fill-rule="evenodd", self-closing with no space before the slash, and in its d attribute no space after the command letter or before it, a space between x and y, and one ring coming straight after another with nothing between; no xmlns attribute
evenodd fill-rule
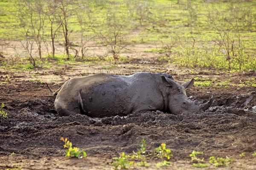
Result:
<svg viewBox="0 0 256 170"><path fill-rule="evenodd" d="M142 65L137 69L140 71L156 72L162 68L161 64L155 68L155 63L147 66L147 62L134 62ZM123 67L125 65L128 64L124 63ZM256 157L252 156L256 151L255 87L241 86L238 89L232 85L229 88L195 86L187 90L187 96L193 96L193 100L198 99L200 102L206 102L214 94L215 100L205 112L188 111L172 115L156 111L99 119L81 114L58 116L54 109L55 96L49 93L44 83L31 81L39 77L57 90L68 78L84 75L81 70L90 68L77 65L76 68L48 72L49 74L46 74L47 70L22 74L1 70L0 82L9 79L9 83L0 85L0 102L5 104L4 111L8 113L8 118L0 122L0 169L110 170L113 169L113 157L121 152L132 154L143 138L147 141L148 151L154 151L161 143L166 143L172 150L172 165L160 169L196 169L192 167L189 157L193 150L204 152L201 158L207 164L210 156L236 159L227 167L209 165L205 169L256 169ZM230 79L230 83L236 85L256 77L256 72L253 71L219 73L216 70L199 70L188 74L187 71L178 72L173 68L166 70L169 74L175 72L177 80L192 77L222 81ZM74 146L84 149L87 158L65 157L61 136L70 139ZM13 152L15 154L11 155ZM245 152L245 156L240 157L241 152ZM158 161L150 159L149 167L131 166L129 169L157 169L154 164Z"/></svg>

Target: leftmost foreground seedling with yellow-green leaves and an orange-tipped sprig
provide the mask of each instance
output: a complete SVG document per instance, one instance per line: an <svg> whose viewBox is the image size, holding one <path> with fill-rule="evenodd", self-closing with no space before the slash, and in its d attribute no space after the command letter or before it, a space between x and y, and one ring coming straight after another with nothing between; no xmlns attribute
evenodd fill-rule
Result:
<svg viewBox="0 0 256 170"><path fill-rule="evenodd" d="M66 156L75 158L85 158L87 156L86 152L80 151L78 147L72 147L72 143L67 140L67 138L64 139L63 137L61 137L60 140L65 142L63 146L64 148L67 148L67 150L65 150L65 152L67 153ZM81 153L83 154L83 156L79 156Z"/></svg>

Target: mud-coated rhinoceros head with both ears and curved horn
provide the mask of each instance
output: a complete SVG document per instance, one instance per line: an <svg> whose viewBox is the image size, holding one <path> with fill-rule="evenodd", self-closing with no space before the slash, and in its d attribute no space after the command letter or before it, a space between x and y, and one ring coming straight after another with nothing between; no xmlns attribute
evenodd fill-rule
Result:
<svg viewBox="0 0 256 170"><path fill-rule="evenodd" d="M168 87L168 108L173 114L178 114L183 111L206 111L213 102L214 97L212 96L208 102L198 105L197 101L191 101L186 96L185 88L191 88L194 84L195 79L191 79L182 85L175 82L172 79L162 77L163 84Z"/></svg>

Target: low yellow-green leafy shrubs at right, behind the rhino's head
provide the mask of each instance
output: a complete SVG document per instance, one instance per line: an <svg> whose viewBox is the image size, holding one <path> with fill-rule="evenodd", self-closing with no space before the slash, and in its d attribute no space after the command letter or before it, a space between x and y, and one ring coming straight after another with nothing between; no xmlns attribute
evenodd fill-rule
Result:
<svg viewBox="0 0 256 170"><path fill-rule="evenodd" d="M172 63L187 68L221 68L229 71L256 70L256 61L253 59L255 52L236 50L236 57L227 60L226 56L216 48L204 49L192 45L180 49L179 54L170 57Z"/></svg>

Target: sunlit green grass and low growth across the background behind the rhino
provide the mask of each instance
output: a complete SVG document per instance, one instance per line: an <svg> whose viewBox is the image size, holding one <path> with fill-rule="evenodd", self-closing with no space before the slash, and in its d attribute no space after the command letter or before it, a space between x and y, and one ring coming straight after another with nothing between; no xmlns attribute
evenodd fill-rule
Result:
<svg viewBox="0 0 256 170"><path fill-rule="evenodd" d="M212 10L206 8L205 2L202 3L202 8L198 7L195 10L180 8L178 5L175 6L174 4L177 3L177 0L173 1L174 3L171 0L142 2L143 10L137 9L139 8L138 4L134 7L133 1L129 1L128 9L122 9L120 6L117 6L116 9L112 8L111 10L94 7L84 10L83 7L87 5L86 1L75 1L69 7L70 11L73 11L68 18L70 42L79 45L81 27L78 16L82 16L84 36L94 35L99 32L103 35L111 35L114 28L113 24L124 24L125 27L120 30L120 35L127 35L129 37L127 44L136 45L136 43L140 42L140 38L134 42L132 37L142 35L145 43L156 46L155 48L151 47L143 51L161 54L161 57L158 59L160 62L173 63L179 67L187 68L220 68L228 71L256 70L255 1L230 1L231 3L228 8L224 8L225 4L220 8L219 2L213 1L212 3L215 8ZM197 0L195 2L199 4ZM224 2L221 1L221 3ZM44 5L47 7L47 3L44 3ZM81 8L72 10L76 7ZM47 11L49 8L44 10ZM0 25L0 35L23 36L25 32L20 26L18 16L22 16L22 14L26 14L28 11L28 8L19 11L3 6L0 12L0 23L3 23ZM214 20L215 25L209 18ZM30 26L29 17L25 15L22 19L26 23L25 27L29 35L32 35L33 31ZM32 20L33 22L37 21L38 15L34 14ZM35 22L36 28L38 24L38 22ZM53 27L57 28L57 26L58 24L55 23ZM209 42L206 38L210 36L217 37L217 40L220 40L220 34L215 26L219 29L222 36L228 33L230 44L231 41L234 41L234 54L231 54L230 59L227 59L227 50L225 51L224 49L226 54L223 52L222 48L224 46L219 48L218 44L214 41ZM64 40L61 31L62 28L57 31L59 42ZM50 24L49 20L46 19L44 23L44 36L48 38L49 35ZM194 44L193 37L196 40ZM171 55L166 57L168 50L164 47L173 43L174 40L176 41ZM64 49L58 51L58 54L54 57L49 55L48 58L53 59L56 64L60 65L76 64L79 61L77 59L67 60L62 51ZM35 56L35 59L38 60L38 56ZM104 57L101 57L100 60L104 60ZM111 61L108 60L108 62L110 65L113 65ZM9 63L2 63L2 65L10 67L8 66ZM35 69L34 66L27 62L17 62L14 65L12 65L12 68ZM38 65L43 68L51 67L49 63L45 65L36 63L36 66Z"/></svg>

